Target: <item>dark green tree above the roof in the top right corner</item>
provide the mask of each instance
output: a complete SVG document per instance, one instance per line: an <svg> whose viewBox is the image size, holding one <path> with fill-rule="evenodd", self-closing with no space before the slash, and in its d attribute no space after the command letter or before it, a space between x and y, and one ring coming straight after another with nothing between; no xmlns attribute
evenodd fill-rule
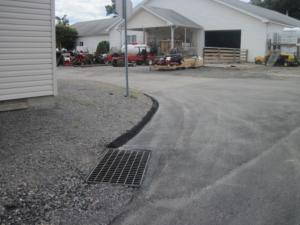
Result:
<svg viewBox="0 0 300 225"><path fill-rule="evenodd" d="M271 9L300 20L300 1L297 0L251 0L251 4Z"/></svg>

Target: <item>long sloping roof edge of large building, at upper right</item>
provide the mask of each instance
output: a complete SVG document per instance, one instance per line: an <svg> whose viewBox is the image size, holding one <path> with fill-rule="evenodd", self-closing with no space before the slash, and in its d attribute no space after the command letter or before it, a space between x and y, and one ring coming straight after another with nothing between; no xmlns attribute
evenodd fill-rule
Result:
<svg viewBox="0 0 300 225"><path fill-rule="evenodd" d="M266 20L264 22L274 22L292 27L300 27L300 21L292 17L286 16L282 13L266 9L260 6L245 3L239 0L215 0L221 4L235 8L246 14L252 14L260 19Z"/></svg>

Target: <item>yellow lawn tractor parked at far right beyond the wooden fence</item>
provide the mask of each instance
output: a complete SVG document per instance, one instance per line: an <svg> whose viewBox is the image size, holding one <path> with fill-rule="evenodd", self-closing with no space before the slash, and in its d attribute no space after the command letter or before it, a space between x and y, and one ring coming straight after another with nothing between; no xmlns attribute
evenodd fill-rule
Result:
<svg viewBox="0 0 300 225"><path fill-rule="evenodd" d="M265 57L256 57L255 64L265 64L267 65L270 57L272 55L272 51L269 51ZM274 66L299 66L300 62L296 54L287 54L287 53L280 53L279 58L274 63Z"/></svg>

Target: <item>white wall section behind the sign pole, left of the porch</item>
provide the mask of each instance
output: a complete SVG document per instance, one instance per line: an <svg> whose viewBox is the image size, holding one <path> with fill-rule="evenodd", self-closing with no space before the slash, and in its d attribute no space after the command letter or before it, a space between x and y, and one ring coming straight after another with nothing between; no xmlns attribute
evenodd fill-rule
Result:
<svg viewBox="0 0 300 225"><path fill-rule="evenodd" d="M143 32L142 31L127 31L127 35L136 35L136 42L139 44L143 43ZM120 32L117 27L113 28L109 34L110 47L121 50ZM125 31L122 30L122 45L125 44Z"/></svg>

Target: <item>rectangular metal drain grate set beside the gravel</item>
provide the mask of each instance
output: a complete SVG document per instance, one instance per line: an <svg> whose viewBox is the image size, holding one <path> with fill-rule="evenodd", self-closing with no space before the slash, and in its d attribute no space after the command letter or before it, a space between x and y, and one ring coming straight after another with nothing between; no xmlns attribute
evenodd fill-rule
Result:
<svg viewBox="0 0 300 225"><path fill-rule="evenodd" d="M150 153L149 150L108 149L86 181L139 187L145 175Z"/></svg>

